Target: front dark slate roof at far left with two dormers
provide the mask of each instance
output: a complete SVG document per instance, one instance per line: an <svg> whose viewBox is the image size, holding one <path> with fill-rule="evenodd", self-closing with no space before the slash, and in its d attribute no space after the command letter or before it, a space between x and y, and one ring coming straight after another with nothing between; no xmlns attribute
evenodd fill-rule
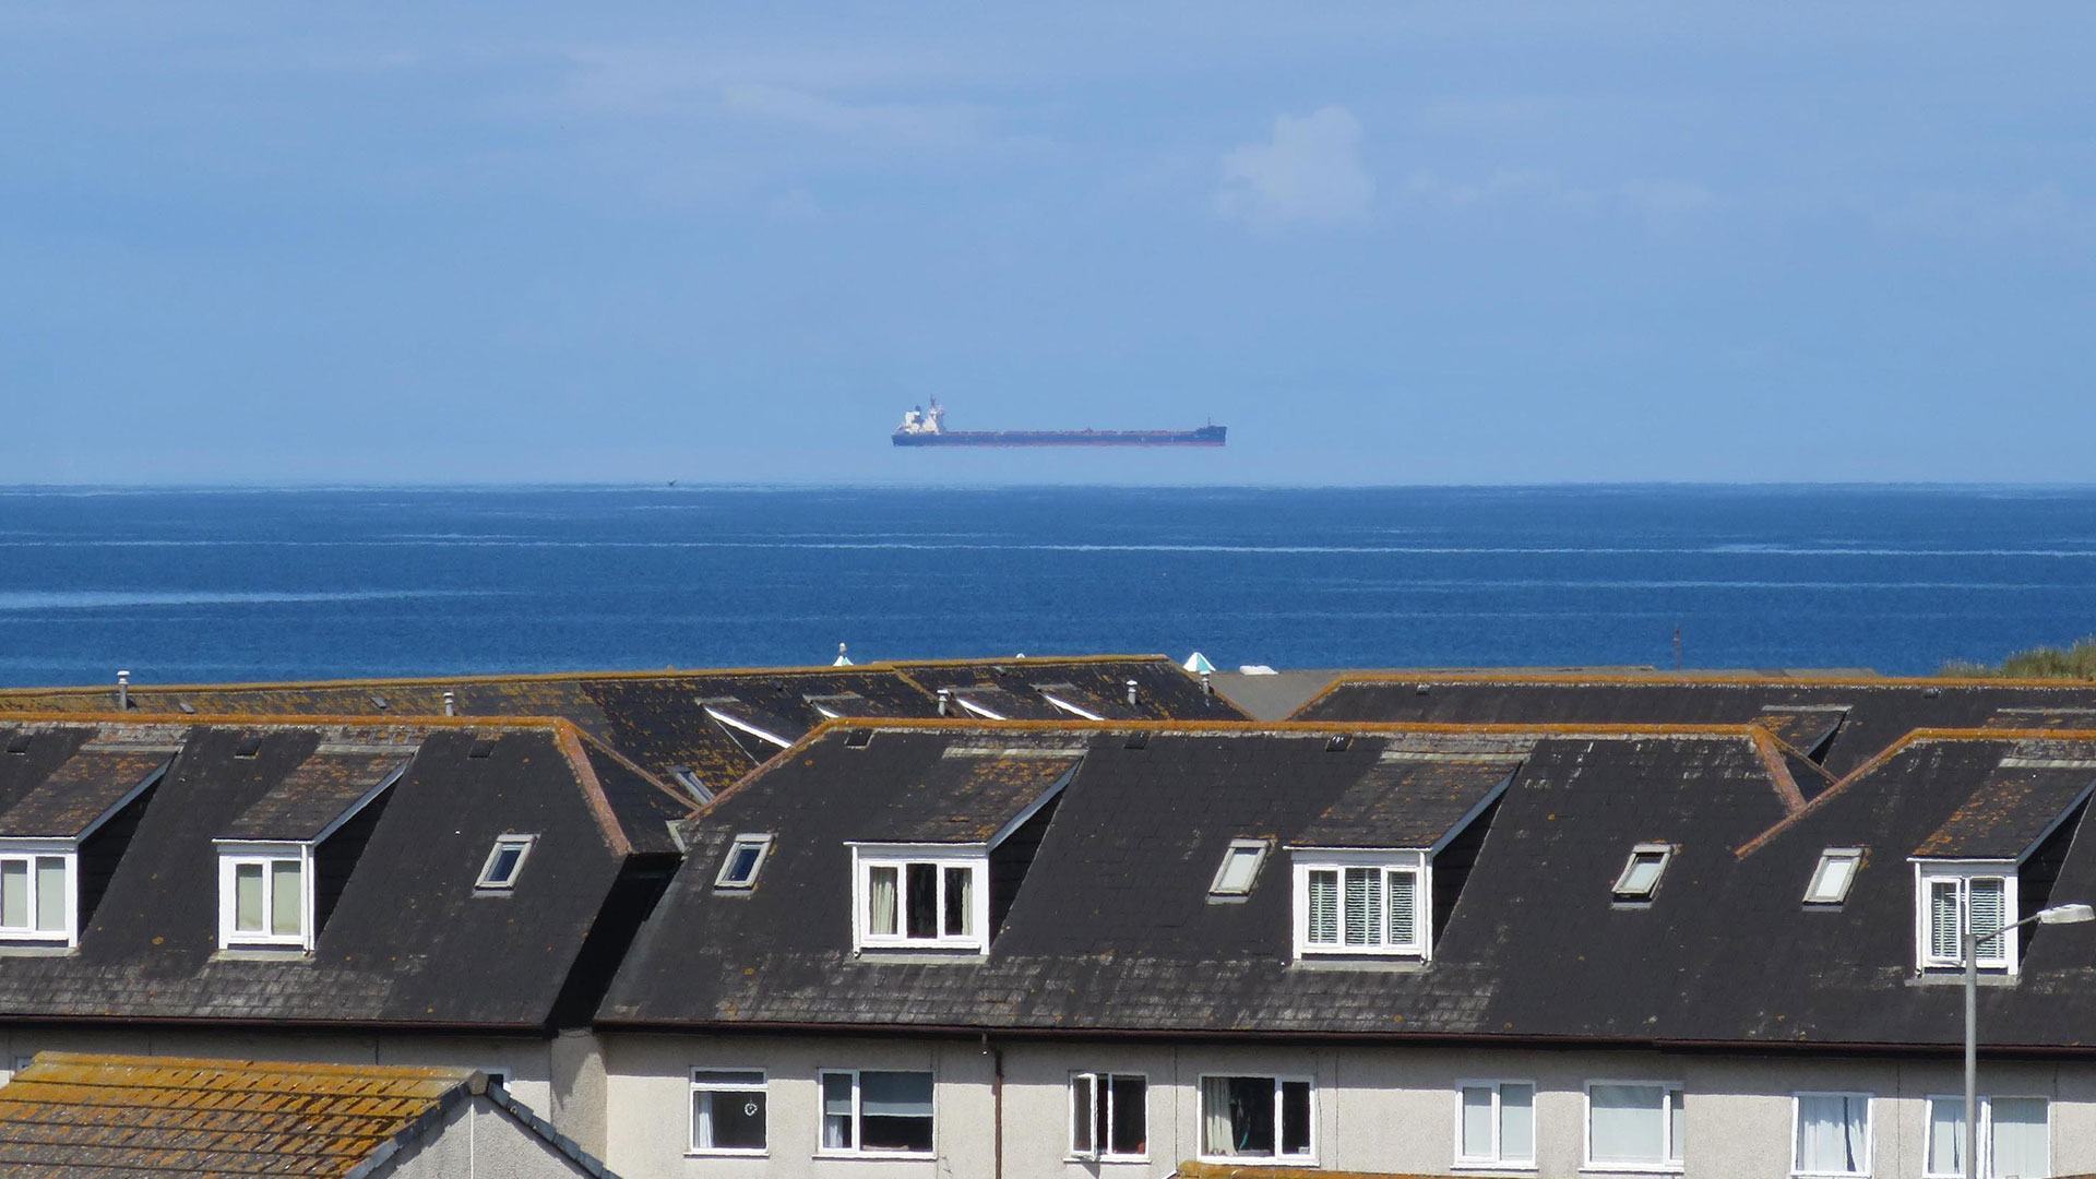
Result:
<svg viewBox="0 0 2096 1179"><path fill-rule="evenodd" d="M690 814L616 759L599 770L589 738L558 720L197 717L172 730L0 717L0 749L27 747L0 753L0 799L90 741L143 734L176 736L178 753L124 822L107 824L113 864L78 948L0 950L0 1017L547 1028L570 988L602 986L591 971L608 978L591 936L616 921L635 873L669 869L669 824ZM361 850L319 843L352 862L314 952L220 952L214 839L316 835L321 816L402 759L356 818ZM316 774L323 762L342 766ZM524 873L507 894L476 892L507 833L539 837Z"/></svg>

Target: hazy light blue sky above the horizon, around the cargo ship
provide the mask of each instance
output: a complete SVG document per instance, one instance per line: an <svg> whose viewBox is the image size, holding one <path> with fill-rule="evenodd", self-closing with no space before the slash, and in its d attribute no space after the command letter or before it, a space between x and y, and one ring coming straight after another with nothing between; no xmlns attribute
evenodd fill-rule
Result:
<svg viewBox="0 0 2096 1179"><path fill-rule="evenodd" d="M2088 480L2092 25L0 0L0 483Z"/></svg>

